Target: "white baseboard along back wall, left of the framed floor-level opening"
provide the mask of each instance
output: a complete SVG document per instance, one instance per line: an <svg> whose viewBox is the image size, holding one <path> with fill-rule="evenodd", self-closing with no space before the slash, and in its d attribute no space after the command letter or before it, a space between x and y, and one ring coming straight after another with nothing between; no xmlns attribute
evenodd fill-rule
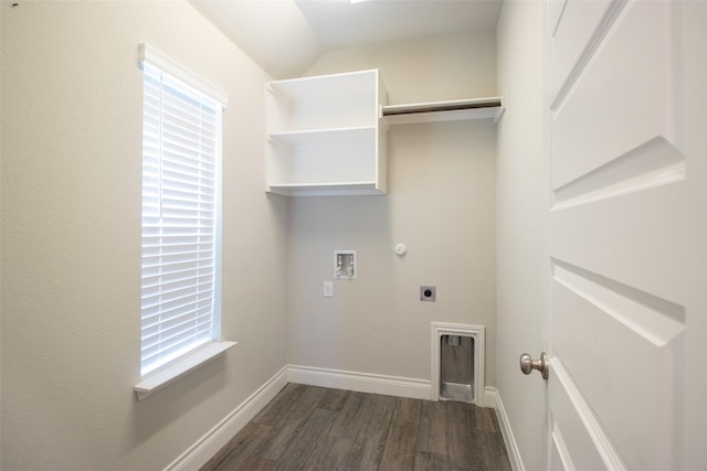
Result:
<svg viewBox="0 0 707 471"><path fill-rule="evenodd" d="M426 379L315 368L299 365L289 365L287 379L291 383L306 384L309 386L410 397L413 399L430 398L430 382Z"/></svg>

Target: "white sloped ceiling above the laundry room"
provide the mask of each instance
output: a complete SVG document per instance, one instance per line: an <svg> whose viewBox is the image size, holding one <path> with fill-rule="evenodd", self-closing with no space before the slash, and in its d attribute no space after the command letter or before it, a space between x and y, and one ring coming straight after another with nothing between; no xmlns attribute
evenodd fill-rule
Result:
<svg viewBox="0 0 707 471"><path fill-rule="evenodd" d="M502 0L191 0L274 78L324 53L495 28Z"/></svg>

